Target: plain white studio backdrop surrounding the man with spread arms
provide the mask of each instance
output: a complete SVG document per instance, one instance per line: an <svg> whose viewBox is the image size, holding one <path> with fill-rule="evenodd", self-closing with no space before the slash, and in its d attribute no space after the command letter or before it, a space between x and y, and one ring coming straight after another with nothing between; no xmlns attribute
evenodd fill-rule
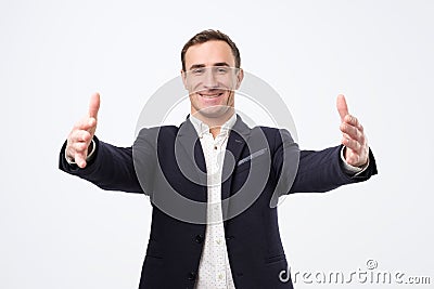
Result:
<svg viewBox="0 0 434 289"><path fill-rule="evenodd" d="M433 15L434 2L419 0L1 0L0 288L138 287L149 199L61 172L59 150L94 91L98 135L131 145L146 98L207 28L231 36L243 68L281 94L302 148L340 143L344 93L376 156L369 182L284 199L293 272L349 275L373 259L378 270L434 283Z"/></svg>

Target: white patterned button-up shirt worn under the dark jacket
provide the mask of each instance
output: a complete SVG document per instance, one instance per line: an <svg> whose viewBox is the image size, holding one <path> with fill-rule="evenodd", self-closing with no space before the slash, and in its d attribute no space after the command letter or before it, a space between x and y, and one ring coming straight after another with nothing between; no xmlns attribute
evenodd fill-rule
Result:
<svg viewBox="0 0 434 289"><path fill-rule="evenodd" d="M208 194L207 225L195 288L234 289L221 212L221 169L229 132L237 121L237 115L233 114L221 126L220 133L216 139L213 137L207 124L193 116L190 116L190 121L197 132L205 156Z"/></svg>

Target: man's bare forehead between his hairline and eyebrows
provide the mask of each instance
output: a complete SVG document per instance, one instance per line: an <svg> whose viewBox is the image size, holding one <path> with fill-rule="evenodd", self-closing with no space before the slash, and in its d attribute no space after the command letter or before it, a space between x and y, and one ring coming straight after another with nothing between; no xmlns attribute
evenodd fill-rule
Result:
<svg viewBox="0 0 434 289"><path fill-rule="evenodd" d="M217 63L228 63L234 66L235 60L228 43L221 40L209 40L190 47L186 52L186 66L214 66Z"/></svg>

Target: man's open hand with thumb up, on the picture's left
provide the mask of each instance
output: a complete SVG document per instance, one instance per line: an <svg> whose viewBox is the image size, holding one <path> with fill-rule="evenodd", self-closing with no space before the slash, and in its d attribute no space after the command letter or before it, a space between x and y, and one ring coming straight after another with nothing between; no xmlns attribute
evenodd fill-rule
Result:
<svg viewBox="0 0 434 289"><path fill-rule="evenodd" d="M66 157L75 161L81 169L86 168L87 165L86 159L90 152L89 145L97 130L99 109L100 94L97 92L90 96L88 115L74 126L67 137L65 149Z"/></svg>

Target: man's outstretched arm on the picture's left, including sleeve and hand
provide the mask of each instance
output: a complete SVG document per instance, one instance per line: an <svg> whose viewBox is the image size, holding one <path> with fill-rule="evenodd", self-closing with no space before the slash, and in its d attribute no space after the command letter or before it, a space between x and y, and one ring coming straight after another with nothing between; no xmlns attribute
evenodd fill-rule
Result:
<svg viewBox="0 0 434 289"><path fill-rule="evenodd" d="M61 149L59 168L103 189L143 193L136 175L132 147L116 147L94 135L99 108L100 95L94 93L88 115L74 126ZM152 149L142 150L145 161L152 165Z"/></svg>

